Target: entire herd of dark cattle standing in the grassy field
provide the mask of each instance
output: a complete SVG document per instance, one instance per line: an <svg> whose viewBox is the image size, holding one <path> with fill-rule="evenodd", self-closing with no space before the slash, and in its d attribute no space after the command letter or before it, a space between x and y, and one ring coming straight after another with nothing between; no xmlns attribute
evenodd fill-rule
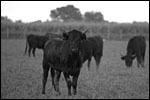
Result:
<svg viewBox="0 0 150 100"><path fill-rule="evenodd" d="M30 56L31 50L35 57L36 48L43 49L43 80L42 94L45 94L48 72L51 70L52 85L55 91L60 94L59 78L63 73L68 95L77 93L77 81L82 68L82 64L88 60L90 70L91 58L94 57L97 69L103 56L103 38L101 36L87 37L86 32L72 30L63 32L61 35L46 34L45 36L28 35L26 38L25 53L28 49ZM146 41L143 36L132 37L127 45L127 54L121 59L125 61L127 67L132 66L132 61L137 58L138 67L144 67L144 56ZM72 76L72 80L71 80Z"/></svg>

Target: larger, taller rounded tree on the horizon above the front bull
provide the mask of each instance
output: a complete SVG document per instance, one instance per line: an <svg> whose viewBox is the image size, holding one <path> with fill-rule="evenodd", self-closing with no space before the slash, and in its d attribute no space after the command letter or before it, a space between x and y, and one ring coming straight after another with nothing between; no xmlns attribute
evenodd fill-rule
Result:
<svg viewBox="0 0 150 100"><path fill-rule="evenodd" d="M83 19L80 10L73 5L51 10L50 17L56 21L81 21Z"/></svg>

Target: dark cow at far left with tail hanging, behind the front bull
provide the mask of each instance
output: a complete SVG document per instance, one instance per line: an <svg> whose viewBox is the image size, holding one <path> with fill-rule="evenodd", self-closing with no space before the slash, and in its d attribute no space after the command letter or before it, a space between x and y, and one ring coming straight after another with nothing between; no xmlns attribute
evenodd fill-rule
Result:
<svg viewBox="0 0 150 100"><path fill-rule="evenodd" d="M32 50L32 54L35 57L36 48L44 49L44 45L48 40L49 40L49 37L47 36L40 36L40 35L33 35L33 34L28 35L26 38L26 48L25 48L24 54L26 54L27 49L28 49L28 54L30 57L30 53Z"/></svg>

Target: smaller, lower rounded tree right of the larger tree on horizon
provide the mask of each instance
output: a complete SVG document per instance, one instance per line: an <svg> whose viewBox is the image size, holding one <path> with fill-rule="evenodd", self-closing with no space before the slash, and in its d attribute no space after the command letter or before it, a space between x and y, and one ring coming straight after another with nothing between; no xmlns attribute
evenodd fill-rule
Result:
<svg viewBox="0 0 150 100"><path fill-rule="evenodd" d="M89 22L103 22L104 17L101 12L86 12L84 14L85 21Z"/></svg>

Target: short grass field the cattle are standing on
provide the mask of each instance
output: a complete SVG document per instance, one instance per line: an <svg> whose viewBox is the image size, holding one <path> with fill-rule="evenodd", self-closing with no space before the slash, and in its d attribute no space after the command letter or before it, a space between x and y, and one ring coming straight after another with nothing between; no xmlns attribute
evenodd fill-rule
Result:
<svg viewBox="0 0 150 100"><path fill-rule="evenodd" d="M126 53L127 41L105 41L104 52L96 71L92 59L91 70L83 64L78 80L77 95L68 96L64 76L60 78L61 95L57 96L49 74L46 95L42 95L42 50L36 58L23 56L25 40L1 40L1 98L2 99L149 99L149 41L147 41L145 68L137 61L127 68L120 59Z"/></svg>

